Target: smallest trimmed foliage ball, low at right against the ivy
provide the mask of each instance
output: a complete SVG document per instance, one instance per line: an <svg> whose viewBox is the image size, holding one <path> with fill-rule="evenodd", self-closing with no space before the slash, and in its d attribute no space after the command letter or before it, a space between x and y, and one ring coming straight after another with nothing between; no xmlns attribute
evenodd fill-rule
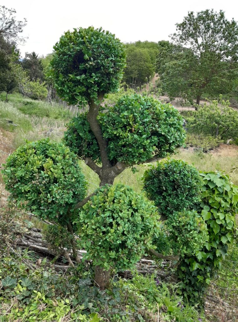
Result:
<svg viewBox="0 0 238 322"><path fill-rule="evenodd" d="M208 240L206 223L194 210L174 213L165 225L170 247L182 257L195 254Z"/></svg>

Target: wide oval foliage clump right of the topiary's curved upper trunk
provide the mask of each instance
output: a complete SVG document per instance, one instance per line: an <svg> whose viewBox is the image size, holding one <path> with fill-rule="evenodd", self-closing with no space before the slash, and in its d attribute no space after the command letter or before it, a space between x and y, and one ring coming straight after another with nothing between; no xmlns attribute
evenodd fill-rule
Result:
<svg viewBox="0 0 238 322"><path fill-rule="evenodd" d="M99 122L108 141L110 160L128 165L144 162L153 154L163 158L184 143L178 110L152 97L125 95Z"/></svg>

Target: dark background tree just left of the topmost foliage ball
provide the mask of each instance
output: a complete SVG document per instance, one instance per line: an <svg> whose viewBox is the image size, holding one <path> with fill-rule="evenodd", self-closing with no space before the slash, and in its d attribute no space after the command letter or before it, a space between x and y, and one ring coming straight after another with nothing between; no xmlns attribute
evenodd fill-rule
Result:
<svg viewBox="0 0 238 322"><path fill-rule="evenodd" d="M43 73L43 65L41 63L41 59L35 52L25 53L25 58L22 61L22 66L24 70L28 71L31 81L36 81L37 79L44 81L45 76Z"/></svg>

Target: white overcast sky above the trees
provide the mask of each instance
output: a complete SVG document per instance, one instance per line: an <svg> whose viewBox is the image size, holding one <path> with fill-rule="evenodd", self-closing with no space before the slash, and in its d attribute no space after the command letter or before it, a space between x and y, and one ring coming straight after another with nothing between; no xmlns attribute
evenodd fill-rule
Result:
<svg viewBox="0 0 238 322"><path fill-rule="evenodd" d="M35 51L46 55L62 33L76 27L102 26L122 42L169 40L175 23L188 11L220 9L227 19L238 21L236 0L1 0L1 5L14 8L17 20L28 23L23 35L28 36L21 55Z"/></svg>

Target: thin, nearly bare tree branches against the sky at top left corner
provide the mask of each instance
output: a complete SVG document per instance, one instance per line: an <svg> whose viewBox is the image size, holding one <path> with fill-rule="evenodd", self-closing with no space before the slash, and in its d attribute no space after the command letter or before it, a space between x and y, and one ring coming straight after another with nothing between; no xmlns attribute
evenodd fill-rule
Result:
<svg viewBox="0 0 238 322"><path fill-rule="evenodd" d="M24 43L27 37L20 36L19 33L23 32L27 20L26 18L23 21L16 20L15 14L15 9L6 8L4 5L0 6L0 37L3 37L8 43Z"/></svg>

